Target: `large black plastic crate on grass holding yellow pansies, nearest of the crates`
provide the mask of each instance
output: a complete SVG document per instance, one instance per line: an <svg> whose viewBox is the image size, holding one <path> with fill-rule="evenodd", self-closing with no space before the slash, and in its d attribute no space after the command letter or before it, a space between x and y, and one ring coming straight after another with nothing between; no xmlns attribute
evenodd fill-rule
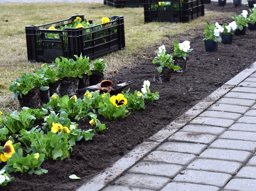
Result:
<svg viewBox="0 0 256 191"><path fill-rule="evenodd" d="M123 16L110 17L108 23L88 28L58 30L60 26L71 24L76 17L86 21L84 15L73 15L46 25L26 26L28 61L53 62L59 56L75 59L74 55L81 53L93 59L125 48ZM51 26L57 30L48 30ZM45 34L59 34L59 39L45 38Z"/></svg>

